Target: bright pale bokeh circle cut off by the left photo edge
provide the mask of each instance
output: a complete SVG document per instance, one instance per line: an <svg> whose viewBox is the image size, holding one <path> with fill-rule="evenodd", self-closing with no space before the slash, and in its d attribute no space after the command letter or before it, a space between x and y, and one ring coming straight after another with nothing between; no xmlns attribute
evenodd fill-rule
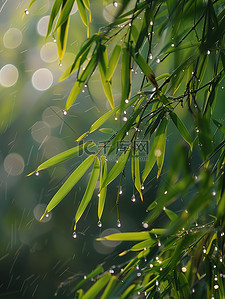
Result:
<svg viewBox="0 0 225 299"><path fill-rule="evenodd" d="M19 72L13 64L6 64L0 70L0 84L4 87L16 84L18 77Z"/></svg>

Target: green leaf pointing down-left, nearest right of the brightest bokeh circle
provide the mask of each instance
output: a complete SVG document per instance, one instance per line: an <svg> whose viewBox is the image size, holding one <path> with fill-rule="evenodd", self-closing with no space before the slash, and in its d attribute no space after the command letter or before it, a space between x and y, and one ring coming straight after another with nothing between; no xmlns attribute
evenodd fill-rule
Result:
<svg viewBox="0 0 225 299"><path fill-rule="evenodd" d="M77 98L78 94L80 93L80 91L82 90L83 84L87 80L88 76L90 76L93 73L93 71L96 67L96 63L97 63L97 55L94 54L91 57L91 60L88 62L85 69L79 75L76 83L74 84L74 86L73 86L73 88L70 92L70 95L69 95L69 97L67 99L67 102L66 102L66 108L65 108L66 111L70 109L70 107L72 106L72 104L76 100L76 98Z"/></svg>

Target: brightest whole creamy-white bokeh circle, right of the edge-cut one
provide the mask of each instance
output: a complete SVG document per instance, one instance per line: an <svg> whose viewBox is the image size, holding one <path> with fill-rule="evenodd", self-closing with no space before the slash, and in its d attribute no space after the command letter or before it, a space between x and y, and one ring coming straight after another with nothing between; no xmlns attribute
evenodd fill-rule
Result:
<svg viewBox="0 0 225 299"><path fill-rule="evenodd" d="M53 75L47 68L38 69L32 76L33 87L37 90L47 90L51 87L52 83Z"/></svg>

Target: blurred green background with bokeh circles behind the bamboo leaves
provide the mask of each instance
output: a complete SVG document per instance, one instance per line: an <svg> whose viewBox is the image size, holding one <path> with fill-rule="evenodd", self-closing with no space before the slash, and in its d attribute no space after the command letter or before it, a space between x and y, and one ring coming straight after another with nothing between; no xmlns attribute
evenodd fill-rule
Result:
<svg viewBox="0 0 225 299"><path fill-rule="evenodd" d="M112 20L115 8L111 1L98 0L91 4L91 30L96 32ZM45 41L52 1L36 1L27 14L24 11L29 1L2 0L0 5L0 297L54 298L57 288L62 287L59 298L72 298L68 290L98 264L123 263L117 255L127 244L99 243L95 238L102 233L143 229L146 208L154 200L164 176L157 181L153 170L145 185L144 203L138 197L132 203L133 186L129 169L126 169L119 201L122 224L119 228L115 206L118 185L113 183L108 190L103 226L97 226L96 190L88 212L78 223L77 239L72 238L73 218L88 175L48 217L39 222L46 204L85 154L45 170L39 176L26 175L46 159L73 147L76 138L110 107L96 71L68 115L63 115L75 75L62 83L58 83L58 79L72 64L86 36L76 6L70 19L67 51L62 65L59 65L56 37ZM156 75L169 72L174 63L173 57L162 65L156 63L157 55L168 38L165 34L154 41L152 67ZM119 68L116 72L113 92L116 103L119 103ZM133 93L142 76L139 69L134 69ZM223 84L218 94L220 97L224 94L222 87ZM216 107L216 114L223 120L221 107ZM127 113L129 116L129 111ZM188 125L189 116L183 118ZM121 123L122 120L111 120L107 126L116 130ZM179 138L173 129L171 124L166 165L173 144ZM86 139L101 143L107 138L109 135L97 132ZM193 169L197 169L199 163L199 154L196 153ZM160 224L165 221L166 217L162 216Z"/></svg>

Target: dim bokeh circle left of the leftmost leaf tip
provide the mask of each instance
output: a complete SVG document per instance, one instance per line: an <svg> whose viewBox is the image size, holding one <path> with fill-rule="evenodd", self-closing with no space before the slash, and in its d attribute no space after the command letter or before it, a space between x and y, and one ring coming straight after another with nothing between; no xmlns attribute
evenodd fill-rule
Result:
<svg viewBox="0 0 225 299"><path fill-rule="evenodd" d="M8 175L18 176L24 170L24 160L17 153L11 153L4 160L4 169Z"/></svg>

